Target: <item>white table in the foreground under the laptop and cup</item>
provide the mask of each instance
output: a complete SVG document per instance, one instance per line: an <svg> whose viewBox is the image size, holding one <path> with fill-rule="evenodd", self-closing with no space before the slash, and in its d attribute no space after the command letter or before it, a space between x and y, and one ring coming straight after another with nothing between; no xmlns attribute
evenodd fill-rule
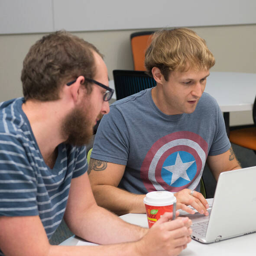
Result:
<svg viewBox="0 0 256 256"><path fill-rule="evenodd" d="M208 204L212 203L212 198L207 199ZM185 212L181 211L181 214ZM244 216L246 217L246 216ZM141 227L148 227L146 214L125 214L121 219ZM237 220L240 221L240 220ZM203 244L192 240L188 247L181 252L181 256L251 256L256 255L255 249L256 233L223 240L217 243ZM70 237L60 245L83 246L96 245L81 240L79 237Z"/></svg>

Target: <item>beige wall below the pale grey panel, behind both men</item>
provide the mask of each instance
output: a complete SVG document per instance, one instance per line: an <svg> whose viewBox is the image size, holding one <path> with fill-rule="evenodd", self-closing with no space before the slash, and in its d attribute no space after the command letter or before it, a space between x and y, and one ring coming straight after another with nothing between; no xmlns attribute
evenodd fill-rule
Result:
<svg viewBox="0 0 256 256"><path fill-rule="evenodd" d="M256 73L256 24L192 27L216 58L212 71ZM105 55L109 77L113 69L133 69L130 34L139 30L74 32ZM0 101L22 96L20 74L29 47L43 34L0 35ZM241 85L243 86L243 85ZM230 125L253 123L251 111L230 114Z"/></svg>

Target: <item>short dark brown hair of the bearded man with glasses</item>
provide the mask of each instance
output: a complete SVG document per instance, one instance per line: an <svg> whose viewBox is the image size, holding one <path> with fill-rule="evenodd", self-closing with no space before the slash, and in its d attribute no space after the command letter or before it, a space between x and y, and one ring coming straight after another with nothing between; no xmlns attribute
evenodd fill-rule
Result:
<svg viewBox="0 0 256 256"><path fill-rule="evenodd" d="M93 78L93 51L103 57L94 45L66 31L43 36L31 46L23 61L21 81L25 100L57 100L63 83L80 75ZM84 84L90 93L91 87L87 82Z"/></svg>

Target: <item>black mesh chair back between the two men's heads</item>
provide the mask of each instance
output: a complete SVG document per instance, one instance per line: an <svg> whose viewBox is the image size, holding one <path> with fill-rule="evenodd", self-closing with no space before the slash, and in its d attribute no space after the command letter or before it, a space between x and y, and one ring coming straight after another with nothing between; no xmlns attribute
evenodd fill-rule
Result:
<svg viewBox="0 0 256 256"><path fill-rule="evenodd" d="M116 69L113 70L113 77L117 100L156 86L154 78L144 71Z"/></svg>

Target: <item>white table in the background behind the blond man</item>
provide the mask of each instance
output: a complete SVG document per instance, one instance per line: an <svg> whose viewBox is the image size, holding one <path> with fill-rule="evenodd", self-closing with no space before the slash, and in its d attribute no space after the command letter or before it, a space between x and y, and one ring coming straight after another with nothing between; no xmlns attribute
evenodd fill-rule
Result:
<svg viewBox="0 0 256 256"><path fill-rule="evenodd" d="M114 81L109 86L115 88ZM207 78L205 92L211 94L224 112L227 134L229 134L229 113L253 109L256 95L256 73L211 72ZM113 94L116 99L116 94Z"/></svg>

